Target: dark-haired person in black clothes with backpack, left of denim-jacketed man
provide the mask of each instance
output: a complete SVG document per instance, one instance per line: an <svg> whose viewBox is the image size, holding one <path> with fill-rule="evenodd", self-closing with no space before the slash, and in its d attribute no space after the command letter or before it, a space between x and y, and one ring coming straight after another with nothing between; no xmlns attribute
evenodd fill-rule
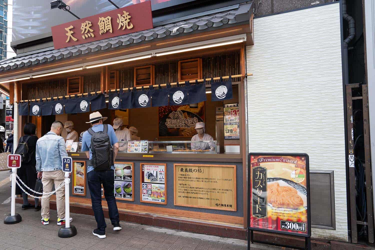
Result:
<svg viewBox="0 0 375 250"><path fill-rule="evenodd" d="M26 144L27 146L27 152L24 155L24 161L21 163L21 168L17 169L17 175L21 179L23 183L25 183L26 186L30 187L31 189L34 189L37 174L36 174L36 160L35 160L35 148L36 148L36 141L38 140L38 137L35 135L36 132L36 126L33 123L26 123L24 126L24 136L21 136L20 140L18 141L18 145L21 145L22 143ZM16 151L16 153L18 153ZM25 187L21 182L19 182L20 185L24 190L27 191L27 187ZM31 205L28 202L28 196L21 188L16 185L16 195L22 195L23 198L23 205L22 210L34 208L34 211L40 210L39 205L39 198L34 198L35 204Z"/></svg>

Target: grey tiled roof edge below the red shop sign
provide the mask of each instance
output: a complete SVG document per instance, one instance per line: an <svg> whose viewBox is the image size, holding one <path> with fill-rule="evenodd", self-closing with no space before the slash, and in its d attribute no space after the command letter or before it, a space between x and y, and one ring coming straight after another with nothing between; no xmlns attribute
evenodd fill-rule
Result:
<svg viewBox="0 0 375 250"><path fill-rule="evenodd" d="M245 6L247 5L247 6ZM247 10L246 10L247 9ZM0 72L11 69L19 69L25 66L36 65L48 61L55 61L62 58L74 57L89 52L104 52L106 49L118 46L126 46L130 43L142 43L155 38L170 38L180 33L190 33L196 30L205 30L211 27L220 27L222 25L233 25L243 20L243 15L249 11L249 5L243 4L237 8L223 12L212 13L185 21L158 26L149 30L126 34L123 36L111 37L94 42L83 43L62 49L50 49L47 51L10 58L0 61ZM246 18L245 18L246 19ZM249 19L248 19L249 20Z"/></svg>

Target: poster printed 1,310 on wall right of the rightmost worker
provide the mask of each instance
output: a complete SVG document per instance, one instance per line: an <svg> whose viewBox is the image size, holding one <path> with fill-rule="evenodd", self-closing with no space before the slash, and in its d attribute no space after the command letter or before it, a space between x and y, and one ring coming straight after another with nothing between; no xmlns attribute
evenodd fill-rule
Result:
<svg viewBox="0 0 375 250"><path fill-rule="evenodd" d="M224 105L224 139L240 139L240 108L238 103Z"/></svg>

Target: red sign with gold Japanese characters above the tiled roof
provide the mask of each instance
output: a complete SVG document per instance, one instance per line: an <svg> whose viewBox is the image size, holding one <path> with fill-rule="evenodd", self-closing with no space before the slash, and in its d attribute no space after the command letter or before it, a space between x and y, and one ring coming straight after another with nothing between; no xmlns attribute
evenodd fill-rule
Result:
<svg viewBox="0 0 375 250"><path fill-rule="evenodd" d="M61 49L150 28L153 28L151 1L145 1L59 24L51 30L55 49Z"/></svg>

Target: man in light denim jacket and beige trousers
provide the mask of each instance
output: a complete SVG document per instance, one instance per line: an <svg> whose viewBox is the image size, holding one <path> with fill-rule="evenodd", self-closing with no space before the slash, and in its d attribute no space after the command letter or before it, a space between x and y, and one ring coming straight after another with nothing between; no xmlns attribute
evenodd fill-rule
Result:
<svg viewBox="0 0 375 250"><path fill-rule="evenodd" d="M36 142L36 171L38 178L42 178L43 193L52 191L52 185L55 189L59 187L64 179L65 174L62 171L62 157L68 156L66 153L65 140L60 136L64 125L61 121L54 121L51 131ZM70 174L69 174L70 176ZM49 198L42 197L42 224L49 224ZM65 186L56 190L56 207L57 207L57 225L65 224ZM69 218L69 221L72 221Z"/></svg>

